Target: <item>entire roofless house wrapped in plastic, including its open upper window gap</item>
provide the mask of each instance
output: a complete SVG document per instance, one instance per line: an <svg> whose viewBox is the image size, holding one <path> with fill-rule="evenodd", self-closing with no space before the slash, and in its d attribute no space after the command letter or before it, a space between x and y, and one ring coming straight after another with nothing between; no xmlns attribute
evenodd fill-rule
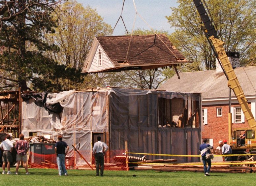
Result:
<svg viewBox="0 0 256 186"><path fill-rule="evenodd" d="M74 157L76 166L86 163L71 145L94 164L92 145L97 136L110 148L106 163L125 152L126 141L129 153L198 154L200 94L110 87L22 97L22 133L51 135L55 140L62 134L70 146L67 157ZM198 157L177 159L199 161Z"/></svg>

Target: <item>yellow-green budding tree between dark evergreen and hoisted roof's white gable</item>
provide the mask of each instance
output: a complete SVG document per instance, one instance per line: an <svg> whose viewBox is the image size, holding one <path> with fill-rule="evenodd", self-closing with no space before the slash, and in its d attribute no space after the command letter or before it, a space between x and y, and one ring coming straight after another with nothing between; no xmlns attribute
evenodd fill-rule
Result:
<svg viewBox="0 0 256 186"><path fill-rule="evenodd" d="M53 16L56 20L58 19L56 32L46 34L46 41L58 46L60 51L47 51L47 55L60 65L81 71L94 37L111 35L111 26L103 21L95 9L90 6L84 8L76 0L63 4ZM79 89L95 86L98 83L102 85L96 79L105 77L88 75L84 79L83 76L80 74L80 78L83 80L79 82L73 79L67 81L66 78L63 78L58 82L61 84L59 86L63 86L65 89ZM78 75L77 78L79 78Z"/></svg>

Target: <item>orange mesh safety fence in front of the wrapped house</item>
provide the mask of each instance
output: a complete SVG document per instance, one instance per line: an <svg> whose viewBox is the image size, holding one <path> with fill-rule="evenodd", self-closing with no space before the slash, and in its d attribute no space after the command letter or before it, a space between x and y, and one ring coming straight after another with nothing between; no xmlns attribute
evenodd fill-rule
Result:
<svg viewBox="0 0 256 186"><path fill-rule="evenodd" d="M82 156L80 156L79 155ZM74 151L72 156L66 156L66 169L86 169L95 170L95 157L86 151L79 150L79 153ZM85 161L85 160L86 161ZM129 170L129 166L134 161L143 160L142 158L132 158L125 154L125 150L107 151L104 156L104 170ZM38 154L34 152L29 153L28 166L30 168L47 168L58 169L56 154Z"/></svg>

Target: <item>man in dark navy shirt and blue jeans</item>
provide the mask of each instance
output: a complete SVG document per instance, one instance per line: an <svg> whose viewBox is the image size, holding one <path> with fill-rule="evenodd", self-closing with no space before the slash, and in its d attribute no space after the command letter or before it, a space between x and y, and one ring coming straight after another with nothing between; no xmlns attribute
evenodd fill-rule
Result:
<svg viewBox="0 0 256 186"><path fill-rule="evenodd" d="M68 153L69 146L65 141L62 141L62 135L58 136L58 142L55 143L55 153L57 156L57 164L59 169L59 176L64 174L64 176L67 176L67 170L65 166L65 156ZM67 148L67 151L66 151Z"/></svg>

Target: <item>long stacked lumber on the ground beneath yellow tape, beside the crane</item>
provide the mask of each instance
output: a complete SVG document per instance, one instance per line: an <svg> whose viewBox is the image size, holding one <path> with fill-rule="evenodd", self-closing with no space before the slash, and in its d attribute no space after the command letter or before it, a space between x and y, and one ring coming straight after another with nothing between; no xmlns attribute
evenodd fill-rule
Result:
<svg viewBox="0 0 256 186"><path fill-rule="evenodd" d="M227 162L226 162L227 163ZM232 162L237 163L237 162ZM241 163L241 161L239 161ZM194 163L198 164L198 163ZM157 171L190 171L190 172L204 172L204 166L202 165L170 165L170 164L144 164L139 165L138 167L130 168L131 170L157 170ZM246 165L246 162L244 162ZM219 172L219 173L252 173L256 172L256 167L247 167L247 166L231 166L231 165L211 165L210 172Z"/></svg>

